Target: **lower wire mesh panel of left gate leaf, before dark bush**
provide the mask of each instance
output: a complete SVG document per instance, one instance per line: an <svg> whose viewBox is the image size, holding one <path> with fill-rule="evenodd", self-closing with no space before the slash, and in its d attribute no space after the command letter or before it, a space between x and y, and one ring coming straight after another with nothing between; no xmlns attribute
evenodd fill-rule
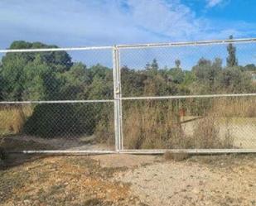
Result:
<svg viewBox="0 0 256 206"><path fill-rule="evenodd" d="M114 150L114 103L2 105L0 137L7 151Z"/></svg>

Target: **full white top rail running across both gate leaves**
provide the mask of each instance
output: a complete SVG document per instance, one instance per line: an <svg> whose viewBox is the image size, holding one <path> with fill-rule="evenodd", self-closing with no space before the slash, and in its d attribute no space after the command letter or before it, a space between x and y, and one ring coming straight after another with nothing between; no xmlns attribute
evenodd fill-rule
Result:
<svg viewBox="0 0 256 206"><path fill-rule="evenodd" d="M109 50L109 49L142 49L153 47L174 47L174 46L207 46L229 43L252 43L256 38L212 40L212 41L186 41L186 42L166 42L166 43L146 43L146 44L128 44L116 46L85 46L85 47L64 47L64 48L40 48L40 49L6 49L0 50L0 53L17 53L17 52L43 52L43 51L69 51L69 50Z"/></svg>

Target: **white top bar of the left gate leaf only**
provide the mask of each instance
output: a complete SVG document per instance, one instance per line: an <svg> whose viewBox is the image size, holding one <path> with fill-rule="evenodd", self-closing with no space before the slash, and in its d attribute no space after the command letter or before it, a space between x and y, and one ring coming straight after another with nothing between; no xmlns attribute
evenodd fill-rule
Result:
<svg viewBox="0 0 256 206"><path fill-rule="evenodd" d="M17 53L17 52L42 52L42 51L69 51L69 50L112 50L113 46L90 46L90 47L66 47L66 48L41 48L41 49L17 49L17 50L0 50L0 53Z"/></svg>

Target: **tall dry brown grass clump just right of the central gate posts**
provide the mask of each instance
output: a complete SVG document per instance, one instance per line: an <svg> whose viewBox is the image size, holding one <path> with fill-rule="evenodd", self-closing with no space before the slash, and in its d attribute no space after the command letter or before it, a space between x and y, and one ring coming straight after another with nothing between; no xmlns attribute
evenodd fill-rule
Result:
<svg viewBox="0 0 256 206"><path fill-rule="evenodd" d="M171 104L138 103L125 114L124 145L129 149L186 147L186 137Z"/></svg>

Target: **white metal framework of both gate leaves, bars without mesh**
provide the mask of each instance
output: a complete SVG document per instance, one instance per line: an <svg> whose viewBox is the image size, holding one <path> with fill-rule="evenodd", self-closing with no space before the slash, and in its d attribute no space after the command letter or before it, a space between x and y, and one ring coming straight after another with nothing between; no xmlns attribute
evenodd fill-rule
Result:
<svg viewBox="0 0 256 206"><path fill-rule="evenodd" d="M220 153L256 153L255 149L152 149L152 150L126 150L123 149L123 113L122 101L135 99L169 99L169 98L215 98L215 97L245 97L255 96L256 93L226 93L226 94L206 94L206 95L182 95L182 96L155 96L155 97L122 97L121 84L121 68L120 68L120 50L122 49L142 49L156 47L175 47L175 46L207 46L229 43L252 43L256 42L256 38L247 39L232 39L220 41L190 41L190 42L171 42L171 43L152 43L152 44L134 44L134 45L118 45L118 46L92 46L92 47L73 47L73 48L50 48L50 49L19 49L19 50L0 50L0 53L18 53L18 52L41 52L41 51L70 51L70 50L106 50L112 49L113 61L113 84L114 84L114 99L99 99L99 100L64 100L64 101L3 101L0 104L27 104L27 103L114 103L114 151L68 151L68 150L41 150L41 151L20 151L18 153L38 154L163 154L165 152L173 153L192 153L192 154L220 154Z"/></svg>

